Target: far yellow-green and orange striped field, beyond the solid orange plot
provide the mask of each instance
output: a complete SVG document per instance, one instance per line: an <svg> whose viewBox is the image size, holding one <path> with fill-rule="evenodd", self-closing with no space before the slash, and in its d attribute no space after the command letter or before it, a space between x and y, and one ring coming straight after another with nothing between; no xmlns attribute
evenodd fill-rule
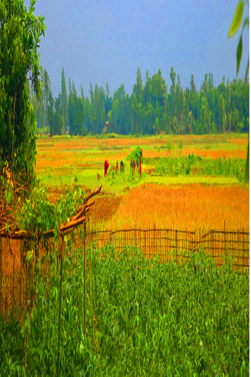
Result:
<svg viewBox="0 0 251 377"><path fill-rule="evenodd" d="M144 156L142 165L143 176L141 182L161 182L161 183L181 183L178 176L161 177L150 176L154 172L155 164L158 161L160 150L162 156L167 155L167 146L170 135L160 135L147 137L128 137L118 136L117 138L107 137L56 137L47 138L44 136L37 137L37 176L41 181L51 187L61 187L62 184L70 184L73 176L73 170L78 174L80 184L85 185L88 189L95 189L99 184L97 173L101 176L102 191L113 192L116 195L132 182L117 182L116 187L106 182L104 178L104 161L109 162L108 175L115 170L116 161L125 162L126 169L129 170L129 161L126 156L140 146ZM239 159L246 159L248 135L246 134L225 134L225 135L204 135L204 136L172 136L172 144L178 148L182 143L182 154L200 155L208 161L222 158L237 156ZM152 174L151 174L152 175ZM61 181L60 178L61 177ZM184 178L184 177L183 177ZM186 177L187 178L187 177ZM232 184L238 182L234 177L211 177L211 176L191 176L192 183L208 184ZM141 183L138 182L138 183ZM187 183L188 182L186 179ZM137 183L136 183L137 184ZM133 182L135 185L135 182Z"/></svg>

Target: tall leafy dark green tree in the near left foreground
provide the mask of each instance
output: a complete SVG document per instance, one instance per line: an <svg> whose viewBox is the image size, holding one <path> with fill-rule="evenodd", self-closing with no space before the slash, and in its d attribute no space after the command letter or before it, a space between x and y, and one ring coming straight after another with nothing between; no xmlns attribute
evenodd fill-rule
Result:
<svg viewBox="0 0 251 377"><path fill-rule="evenodd" d="M36 119L28 81L40 97L38 45L45 25L44 17L34 16L34 5L28 12L23 0L0 6L0 174L5 166L19 182L35 179Z"/></svg>

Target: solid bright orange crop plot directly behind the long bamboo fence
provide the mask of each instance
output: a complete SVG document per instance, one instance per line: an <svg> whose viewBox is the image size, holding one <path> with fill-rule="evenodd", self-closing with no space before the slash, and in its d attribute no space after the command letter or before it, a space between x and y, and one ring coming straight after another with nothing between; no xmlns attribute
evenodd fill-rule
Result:
<svg viewBox="0 0 251 377"><path fill-rule="evenodd" d="M223 229L224 220L228 229L249 227L249 185L141 185L123 196L109 228Z"/></svg>

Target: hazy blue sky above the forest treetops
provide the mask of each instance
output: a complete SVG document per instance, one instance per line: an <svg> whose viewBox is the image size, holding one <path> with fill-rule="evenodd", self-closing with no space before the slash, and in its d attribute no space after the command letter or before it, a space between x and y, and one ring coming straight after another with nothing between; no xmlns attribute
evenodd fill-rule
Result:
<svg viewBox="0 0 251 377"><path fill-rule="evenodd" d="M47 70L53 97L61 91L64 67L68 95L69 77L78 95L80 84L90 97L90 82L110 95L122 84L131 95L140 67L145 85L161 70L170 92L173 66L176 82L190 87L193 74L199 90L205 73L212 72L214 86L236 75L236 49L240 30L228 40L228 31L238 1L80 1L37 0L35 15L43 15L45 37L40 42L40 64ZM25 0L27 9L30 2ZM243 17L249 15L245 2ZM249 57L249 30L243 32L239 76L245 77Z"/></svg>

